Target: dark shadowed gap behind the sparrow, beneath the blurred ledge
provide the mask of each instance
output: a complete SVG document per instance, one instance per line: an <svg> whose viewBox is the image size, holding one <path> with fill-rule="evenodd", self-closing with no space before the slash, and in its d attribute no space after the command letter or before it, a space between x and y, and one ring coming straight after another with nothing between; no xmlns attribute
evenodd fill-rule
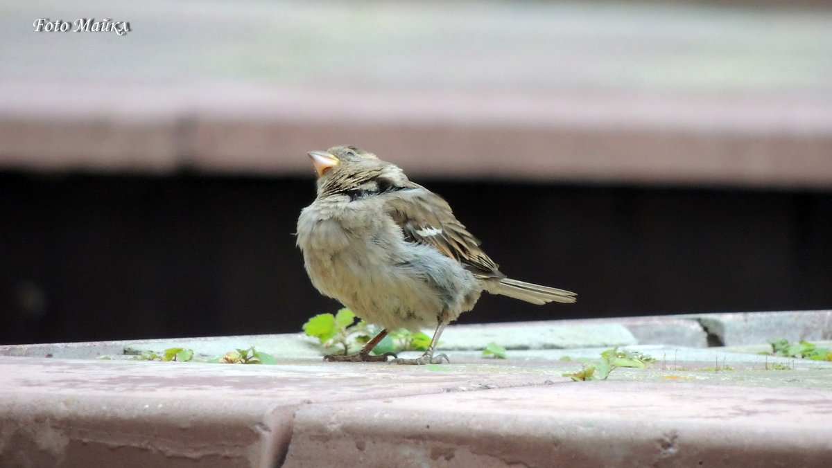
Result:
<svg viewBox="0 0 832 468"><path fill-rule="evenodd" d="M824 308L832 193L419 180L515 278L462 323ZM339 304L292 233L309 180L0 175L0 342L290 333Z"/></svg>

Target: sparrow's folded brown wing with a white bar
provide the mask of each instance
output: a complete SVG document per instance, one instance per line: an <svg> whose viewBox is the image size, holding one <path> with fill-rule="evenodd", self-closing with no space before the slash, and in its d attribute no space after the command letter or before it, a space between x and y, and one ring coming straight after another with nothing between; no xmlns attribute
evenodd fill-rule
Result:
<svg viewBox="0 0 832 468"><path fill-rule="evenodd" d="M409 182L406 190L385 196L385 208L401 226L404 239L425 244L456 259L479 278L504 278L498 264L479 248L479 239L453 216L448 202L423 186Z"/></svg>

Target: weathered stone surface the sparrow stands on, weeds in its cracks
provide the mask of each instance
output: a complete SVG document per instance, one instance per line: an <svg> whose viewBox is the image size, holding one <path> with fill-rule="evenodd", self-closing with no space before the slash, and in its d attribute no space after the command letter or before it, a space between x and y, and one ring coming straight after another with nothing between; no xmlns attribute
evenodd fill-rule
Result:
<svg viewBox="0 0 832 468"><path fill-rule="evenodd" d="M706 317L722 321L732 342L733 328L800 337L829 316ZM628 336L669 342L691 336L681 324L699 327L701 317L617 323L637 328ZM532 323L527 331L611 330L615 342L615 322ZM465 326L459 336L503 327L524 329ZM322 362L296 334L0 347L0 466L741 467L832 459L832 362L753 354L759 347L641 342L626 348L656 357L649 368L572 382L562 374L604 347L513 349L493 360L458 349L461 338L449 343L452 363L438 367ZM279 364L95 358L126 347L220 353L252 344L282 352Z"/></svg>

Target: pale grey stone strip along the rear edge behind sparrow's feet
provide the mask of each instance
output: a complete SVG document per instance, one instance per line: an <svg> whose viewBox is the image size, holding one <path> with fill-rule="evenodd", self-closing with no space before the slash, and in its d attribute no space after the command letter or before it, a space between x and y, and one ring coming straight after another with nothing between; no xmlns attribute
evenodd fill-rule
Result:
<svg viewBox="0 0 832 468"><path fill-rule="evenodd" d="M713 343L708 342L711 334ZM446 351L481 351L488 342L511 350L547 350L633 345L708 347L765 345L785 337L790 341L825 340L832 337L832 311L757 313L707 313L678 316L593 318L547 322L451 325L442 337ZM221 356L235 348L257 347L279 351L292 359L317 359L314 339L302 333L237 337L181 337L113 342L0 345L0 356L92 359L121 356L125 348L161 351L168 347L191 348L199 354Z"/></svg>

